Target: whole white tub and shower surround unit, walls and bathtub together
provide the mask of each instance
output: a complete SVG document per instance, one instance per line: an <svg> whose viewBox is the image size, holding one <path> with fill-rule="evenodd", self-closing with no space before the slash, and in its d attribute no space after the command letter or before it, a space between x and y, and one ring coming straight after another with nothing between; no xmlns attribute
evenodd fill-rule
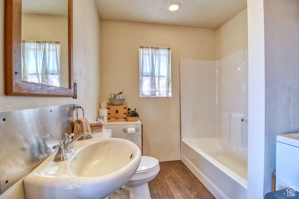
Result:
<svg viewBox="0 0 299 199"><path fill-rule="evenodd" d="M181 160L217 199L246 199L248 50L181 60L180 87Z"/></svg>

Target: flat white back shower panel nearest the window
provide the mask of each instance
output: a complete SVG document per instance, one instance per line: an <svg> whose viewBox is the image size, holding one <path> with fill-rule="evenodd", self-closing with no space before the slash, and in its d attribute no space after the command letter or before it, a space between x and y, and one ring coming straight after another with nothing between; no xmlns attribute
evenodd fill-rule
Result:
<svg viewBox="0 0 299 199"><path fill-rule="evenodd" d="M181 138L216 136L216 61L180 60Z"/></svg>

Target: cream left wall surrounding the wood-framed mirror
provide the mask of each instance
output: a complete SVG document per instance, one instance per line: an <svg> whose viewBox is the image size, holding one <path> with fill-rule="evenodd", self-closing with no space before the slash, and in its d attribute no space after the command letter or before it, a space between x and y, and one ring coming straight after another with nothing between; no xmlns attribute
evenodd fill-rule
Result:
<svg viewBox="0 0 299 199"><path fill-rule="evenodd" d="M73 0L73 51L74 81L78 98L20 97L4 94L4 1L0 2L1 40L0 63L0 112L78 104L84 108L85 117L95 120L100 101L100 20L93 0ZM0 195L0 198L24 198L22 180Z"/></svg>

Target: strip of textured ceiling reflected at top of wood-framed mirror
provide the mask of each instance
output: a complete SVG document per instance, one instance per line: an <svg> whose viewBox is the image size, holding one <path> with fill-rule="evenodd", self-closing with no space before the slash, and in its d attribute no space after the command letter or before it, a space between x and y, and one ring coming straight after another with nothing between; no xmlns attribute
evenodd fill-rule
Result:
<svg viewBox="0 0 299 199"><path fill-rule="evenodd" d="M68 16L68 0L22 0L22 14Z"/></svg>

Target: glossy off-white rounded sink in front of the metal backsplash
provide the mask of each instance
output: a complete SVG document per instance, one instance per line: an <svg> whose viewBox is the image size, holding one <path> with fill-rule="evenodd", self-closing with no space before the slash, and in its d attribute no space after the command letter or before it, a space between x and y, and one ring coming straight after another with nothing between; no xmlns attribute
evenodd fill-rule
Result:
<svg viewBox="0 0 299 199"><path fill-rule="evenodd" d="M88 139L73 146L67 160L54 162L54 153L25 177L26 199L105 198L135 174L141 160L140 149L124 139Z"/></svg>

